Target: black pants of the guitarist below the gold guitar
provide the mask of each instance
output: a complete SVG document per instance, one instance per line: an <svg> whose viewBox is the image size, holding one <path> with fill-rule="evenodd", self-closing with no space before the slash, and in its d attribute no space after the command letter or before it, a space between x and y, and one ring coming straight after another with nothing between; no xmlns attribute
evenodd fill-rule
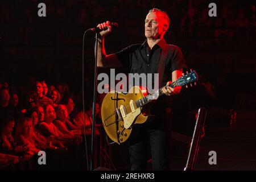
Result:
<svg viewBox="0 0 256 182"><path fill-rule="evenodd" d="M151 152L152 170L169 169L171 117L164 115L152 121L134 125L129 140L131 170L147 169L148 152ZM148 151L148 144L150 150Z"/></svg>

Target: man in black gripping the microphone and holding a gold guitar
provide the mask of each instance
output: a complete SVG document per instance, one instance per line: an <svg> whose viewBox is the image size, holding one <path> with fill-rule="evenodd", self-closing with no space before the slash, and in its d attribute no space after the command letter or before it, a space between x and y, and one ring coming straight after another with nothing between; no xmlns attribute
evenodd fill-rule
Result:
<svg viewBox="0 0 256 182"><path fill-rule="evenodd" d="M107 55L104 47L105 36L112 27L110 22L98 24L102 31L98 38L97 66L104 68L126 67L130 73L159 73L159 87L167 85L165 95L152 105L154 119L134 125L129 138L131 170L146 170L147 142L150 143L153 170L168 170L169 144L171 134L171 98L180 93L181 87L168 86L176 81L187 67L179 47L167 44L164 34L170 26L170 18L159 9L148 11L144 21L146 40L142 44L133 44L117 53ZM151 87L152 88L152 87Z"/></svg>

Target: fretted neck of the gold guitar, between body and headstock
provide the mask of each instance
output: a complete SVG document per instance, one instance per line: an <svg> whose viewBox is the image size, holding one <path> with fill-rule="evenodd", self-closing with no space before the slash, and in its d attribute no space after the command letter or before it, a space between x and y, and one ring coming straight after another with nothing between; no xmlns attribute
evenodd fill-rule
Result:
<svg viewBox="0 0 256 182"><path fill-rule="evenodd" d="M177 82L174 81L169 86L171 86L171 88L175 88L177 86ZM137 100L136 101L137 108L138 107L142 107L143 105L148 104L152 100L156 100L159 96L162 96L164 94L163 88L167 89L167 86L163 86L162 88L160 88L158 90L155 90L155 92L150 93L147 96L142 97L141 99Z"/></svg>

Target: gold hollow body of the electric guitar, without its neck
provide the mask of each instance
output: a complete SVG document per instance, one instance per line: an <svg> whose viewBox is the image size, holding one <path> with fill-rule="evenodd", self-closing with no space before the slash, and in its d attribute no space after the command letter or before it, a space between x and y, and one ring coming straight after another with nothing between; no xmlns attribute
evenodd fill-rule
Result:
<svg viewBox="0 0 256 182"><path fill-rule="evenodd" d="M131 125L146 122L147 116L142 114L142 107L135 108L125 117L121 113L115 114L117 107L129 106L131 101L135 102L142 97L144 97L143 93L138 86L133 86L127 94L112 91L104 97L101 106L102 123L109 138L114 142L125 142L131 134Z"/></svg>

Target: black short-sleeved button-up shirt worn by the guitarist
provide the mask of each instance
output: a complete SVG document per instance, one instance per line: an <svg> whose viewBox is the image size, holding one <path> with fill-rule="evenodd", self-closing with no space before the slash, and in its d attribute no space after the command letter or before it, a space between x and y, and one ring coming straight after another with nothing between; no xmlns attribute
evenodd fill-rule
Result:
<svg viewBox="0 0 256 182"><path fill-rule="evenodd" d="M167 44L164 39L155 44L151 50L145 40L143 44L133 44L117 52L116 55L123 66L130 69L130 73L159 73L159 88L172 80L172 72L187 67L180 48ZM154 76L152 83L154 84ZM158 102L163 107L170 107L170 98L162 96L158 98Z"/></svg>

